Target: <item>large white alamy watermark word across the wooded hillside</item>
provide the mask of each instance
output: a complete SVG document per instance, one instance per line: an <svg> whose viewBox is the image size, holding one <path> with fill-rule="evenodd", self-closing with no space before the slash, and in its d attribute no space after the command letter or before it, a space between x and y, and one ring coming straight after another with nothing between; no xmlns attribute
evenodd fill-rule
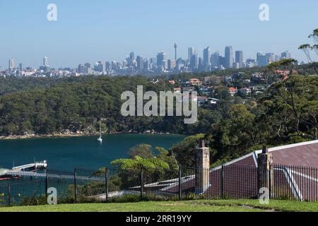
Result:
<svg viewBox="0 0 318 226"><path fill-rule="evenodd" d="M137 97L133 92L126 91L122 93L122 100L126 100L122 105L124 117L184 116L184 124L195 124L198 121L197 92L172 93L172 91L162 91L158 97L154 91L143 93L143 86L138 85Z"/></svg>

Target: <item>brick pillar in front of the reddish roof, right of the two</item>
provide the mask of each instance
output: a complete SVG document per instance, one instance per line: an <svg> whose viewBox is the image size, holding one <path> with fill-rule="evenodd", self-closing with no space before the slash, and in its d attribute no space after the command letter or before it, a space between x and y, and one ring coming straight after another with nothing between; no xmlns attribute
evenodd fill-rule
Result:
<svg viewBox="0 0 318 226"><path fill-rule="evenodd" d="M269 189L269 196L273 193L273 153L267 147L258 156L258 189Z"/></svg>

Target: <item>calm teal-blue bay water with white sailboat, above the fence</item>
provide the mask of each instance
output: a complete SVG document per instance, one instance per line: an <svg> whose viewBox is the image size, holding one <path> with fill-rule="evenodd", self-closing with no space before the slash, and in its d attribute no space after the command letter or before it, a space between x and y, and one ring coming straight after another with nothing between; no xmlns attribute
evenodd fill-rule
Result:
<svg viewBox="0 0 318 226"><path fill-rule="evenodd" d="M117 158L128 156L129 148L147 143L170 148L185 137L176 135L112 134L103 136L100 145L97 136L69 138L34 138L0 141L0 167L24 165L34 160L47 160L50 169L73 170L74 167L98 169L110 166Z"/></svg>

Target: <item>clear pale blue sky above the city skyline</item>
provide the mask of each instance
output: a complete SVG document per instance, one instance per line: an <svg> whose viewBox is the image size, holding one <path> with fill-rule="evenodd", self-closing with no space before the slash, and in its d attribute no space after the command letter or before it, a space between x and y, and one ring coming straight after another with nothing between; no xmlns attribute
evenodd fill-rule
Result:
<svg viewBox="0 0 318 226"><path fill-rule="evenodd" d="M57 4L58 20L47 21L47 5ZM270 20L259 20L259 5L269 4ZM187 58L187 47L199 54L206 46L224 54L226 45L257 52L298 51L318 27L317 0L0 0L0 66L8 59L40 66L76 67L98 60L122 61L135 51L155 57L165 51Z"/></svg>

